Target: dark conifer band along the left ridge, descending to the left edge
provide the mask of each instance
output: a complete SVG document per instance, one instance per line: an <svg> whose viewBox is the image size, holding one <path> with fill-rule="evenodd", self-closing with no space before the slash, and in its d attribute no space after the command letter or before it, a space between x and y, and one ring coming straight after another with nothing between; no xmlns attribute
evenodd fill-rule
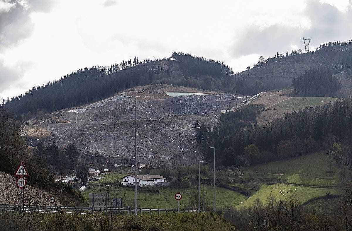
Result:
<svg viewBox="0 0 352 231"><path fill-rule="evenodd" d="M94 66L77 70L45 85L32 87L25 94L3 100L3 103L15 114L23 114L24 117L39 111L49 113L94 102L126 88L150 84L153 75L162 72L161 68L143 66L107 74L104 67Z"/></svg>

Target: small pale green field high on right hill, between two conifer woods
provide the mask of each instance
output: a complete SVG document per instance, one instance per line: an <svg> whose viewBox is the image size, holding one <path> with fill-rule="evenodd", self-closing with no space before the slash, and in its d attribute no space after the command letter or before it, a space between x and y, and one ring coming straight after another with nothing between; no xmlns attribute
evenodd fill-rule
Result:
<svg viewBox="0 0 352 231"><path fill-rule="evenodd" d="M318 106L327 104L329 101L334 102L337 98L331 97L292 97L275 104L277 110L299 110L300 108Z"/></svg>

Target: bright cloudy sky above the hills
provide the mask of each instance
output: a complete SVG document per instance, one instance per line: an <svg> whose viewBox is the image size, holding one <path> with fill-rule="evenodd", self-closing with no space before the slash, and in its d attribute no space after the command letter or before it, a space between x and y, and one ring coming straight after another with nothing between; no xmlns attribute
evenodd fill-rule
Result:
<svg viewBox="0 0 352 231"><path fill-rule="evenodd" d="M191 52L234 71L352 38L351 0L0 0L0 99L78 68Z"/></svg>

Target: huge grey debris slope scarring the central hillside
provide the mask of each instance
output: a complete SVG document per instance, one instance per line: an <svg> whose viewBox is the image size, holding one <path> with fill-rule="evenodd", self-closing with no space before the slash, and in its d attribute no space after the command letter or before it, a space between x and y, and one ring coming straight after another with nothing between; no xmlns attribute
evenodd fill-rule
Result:
<svg viewBox="0 0 352 231"><path fill-rule="evenodd" d="M208 95L170 97L165 92ZM218 124L221 110L229 110L242 101L240 98L232 100L231 94L165 84L131 88L116 95L123 94L137 97L138 160L166 165L197 161L195 121L213 127ZM55 140L61 147L75 143L85 162L96 161L92 157L96 154L113 159L114 163L118 163L119 158L132 160L134 105L134 99L110 97L98 103L44 115L48 119L31 122L25 129L33 146L39 140L44 143Z"/></svg>

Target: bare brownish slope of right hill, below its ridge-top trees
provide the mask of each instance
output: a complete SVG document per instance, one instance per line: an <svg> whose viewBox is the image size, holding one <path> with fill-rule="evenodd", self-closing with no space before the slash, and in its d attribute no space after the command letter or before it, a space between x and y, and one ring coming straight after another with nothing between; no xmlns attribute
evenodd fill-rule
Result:
<svg viewBox="0 0 352 231"><path fill-rule="evenodd" d="M259 83L262 78L262 85L259 91L273 90L277 88L287 88L292 86L292 79L312 67L326 67L335 77L339 77L339 71L335 65L342 59L349 62L350 50L346 51L315 51L303 54L296 54L269 63L263 63L249 70L237 73L234 77L243 78L246 83ZM348 64L348 63L346 63ZM341 77L342 89L339 91L339 97L349 97L352 93L352 71L346 69Z"/></svg>

